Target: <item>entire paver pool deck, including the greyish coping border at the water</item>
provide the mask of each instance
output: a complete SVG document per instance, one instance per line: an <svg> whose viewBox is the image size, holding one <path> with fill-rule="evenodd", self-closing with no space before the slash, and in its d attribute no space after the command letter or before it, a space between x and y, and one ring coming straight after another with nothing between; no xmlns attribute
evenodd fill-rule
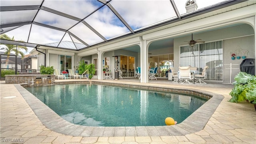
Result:
<svg viewBox="0 0 256 144"><path fill-rule="evenodd" d="M77 82L85 80L56 80ZM137 84L170 88L186 88L215 93L213 111L202 117L192 117L175 126L95 128L76 126L52 115L48 107L19 84L0 82L0 143L1 144L256 144L256 111L248 102L231 103L231 84L174 84L166 79L149 80L142 84L138 79L92 80L115 84ZM27 96L28 95L28 96ZM214 99L212 99L214 100ZM209 103L208 103L209 104ZM209 104L210 106L211 104ZM214 108L216 105L216 108ZM37 106L37 107L36 107ZM207 111L207 110L205 110ZM210 114L208 116L208 113ZM48 114L48 115L47 115ZM42 117L42 115L45 115ZM195 115L195 114L194 114ZM206 117L204 119L204 117ZM202 124L198 124L198 119ZM53 122L54 121L54 122ZM205 121L205 124L204 124ZM190 124L188 126L186 124ZM186 128L187 127L187 128ZM74 130L74 128L76 128Z"/></svg>

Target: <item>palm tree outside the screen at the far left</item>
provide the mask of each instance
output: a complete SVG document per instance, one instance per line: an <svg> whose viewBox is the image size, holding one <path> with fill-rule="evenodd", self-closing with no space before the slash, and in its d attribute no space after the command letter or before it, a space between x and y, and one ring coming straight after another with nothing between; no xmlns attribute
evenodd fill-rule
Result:
<svg viewBox="0 0 256 144"><path fill-rule="evenodd" d="M6 34L0 35L0 38L4 39L4 40L12 40L12 41L14 41L14 36L12 38L10 38ZM24 42L22 40L18 40L18 41L19 42ZM2 44L2 43L0 43L0 44ZM5 63L7 69L9 68L9 58L10 58L9 54L11 52L15 52L16 55L20 55L22 59L24 58L24 53L22 51L20 51L20 50L23 49L26 52L28 52L28 48L26 46L17 46L17 51L16 51L16 45L13 45L13 44L4 44L4 45L6 46L4 54L8 54L8 56L6 58L6 63Z"/></svg>

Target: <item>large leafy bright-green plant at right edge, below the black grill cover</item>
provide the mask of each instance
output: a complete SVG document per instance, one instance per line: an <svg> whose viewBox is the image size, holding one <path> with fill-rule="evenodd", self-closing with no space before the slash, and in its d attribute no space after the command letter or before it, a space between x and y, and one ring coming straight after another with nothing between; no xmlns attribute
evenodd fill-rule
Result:
<svg viewBox="0 0 256 144"><path fill-rule="evenodd" d="M248 100L254 104L256 110L256 76L239 72L234 79L236 81L233 83L234 88L229 93L232 96L229 102Z"/></svg>

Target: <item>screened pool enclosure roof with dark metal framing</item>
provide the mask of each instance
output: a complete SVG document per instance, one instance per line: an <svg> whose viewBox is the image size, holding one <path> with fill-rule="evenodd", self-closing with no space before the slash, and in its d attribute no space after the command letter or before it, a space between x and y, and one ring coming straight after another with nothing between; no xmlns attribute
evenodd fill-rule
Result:
<svg viewBox="0 0 256 144"><path fill-rule="evenodd" d="M185 14L180 7L186 1L1 0L0 34L25 41L1 43L82 50L243 2L226 0Z"/></svg>

